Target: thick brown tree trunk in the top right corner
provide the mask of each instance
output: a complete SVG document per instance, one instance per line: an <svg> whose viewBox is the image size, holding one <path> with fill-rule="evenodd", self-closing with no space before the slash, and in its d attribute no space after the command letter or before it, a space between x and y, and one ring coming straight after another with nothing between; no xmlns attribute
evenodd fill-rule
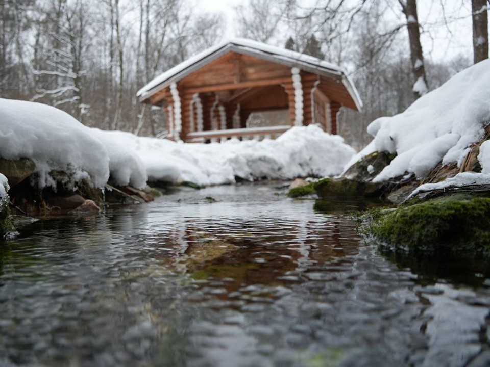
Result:
<svg viewBox="0 0 490 367"><path fill-rule="evenodd" d="M473 20L473 60L488 59L488 6L487 0L471 0Z"/></svg>

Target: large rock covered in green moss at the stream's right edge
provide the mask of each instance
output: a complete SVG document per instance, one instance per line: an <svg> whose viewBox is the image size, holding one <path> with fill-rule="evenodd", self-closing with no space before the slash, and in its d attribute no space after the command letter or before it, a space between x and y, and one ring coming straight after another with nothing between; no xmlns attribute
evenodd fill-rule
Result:
<svg viewBox="0 0 490 367"><path fill-rule="evenodd" d="M394 245L438 254L490 252L490 198L455 194L364 214L365 229Z"/></svg>

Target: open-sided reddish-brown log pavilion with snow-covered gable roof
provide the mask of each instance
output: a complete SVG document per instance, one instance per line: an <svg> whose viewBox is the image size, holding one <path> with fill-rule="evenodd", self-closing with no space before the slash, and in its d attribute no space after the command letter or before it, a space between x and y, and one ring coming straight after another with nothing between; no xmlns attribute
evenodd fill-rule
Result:
<svg viewBox="0 0 490 367"><path fill-rule="evenodd" d="M274 138L310 123L336 134L340 108L362 106L336 65L245 39L208 48L137 95L164 109L168 138L186 142Z"/></svg>

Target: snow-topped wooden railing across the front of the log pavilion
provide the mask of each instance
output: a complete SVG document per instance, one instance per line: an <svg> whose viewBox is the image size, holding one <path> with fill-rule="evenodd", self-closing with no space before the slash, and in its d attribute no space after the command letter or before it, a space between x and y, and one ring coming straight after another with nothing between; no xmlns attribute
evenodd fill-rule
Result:
<svg viewBox="0 0 490 367"><path fill-rule="evenodd" d="M275 139L290 128L290 125L279 125L193 132L187 134L186 142L217 142L225 141L230 138L237 138L240 140L262 140L264 138Z"/></svg>

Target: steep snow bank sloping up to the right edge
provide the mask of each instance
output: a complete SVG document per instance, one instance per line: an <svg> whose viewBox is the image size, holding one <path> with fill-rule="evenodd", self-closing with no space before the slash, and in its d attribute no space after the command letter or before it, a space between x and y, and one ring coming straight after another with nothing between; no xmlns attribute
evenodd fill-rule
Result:
<svg viewBox="0 0 490 367"><path fill-rule="evenodd" d="M468 147L483 137L484 122L490 122L490 60L461 71L405 112L373 121L367 132L374 145L359 156L373 150L397 153L374 182L406 172L423 177L441 160L460 165Z"/></svg>

